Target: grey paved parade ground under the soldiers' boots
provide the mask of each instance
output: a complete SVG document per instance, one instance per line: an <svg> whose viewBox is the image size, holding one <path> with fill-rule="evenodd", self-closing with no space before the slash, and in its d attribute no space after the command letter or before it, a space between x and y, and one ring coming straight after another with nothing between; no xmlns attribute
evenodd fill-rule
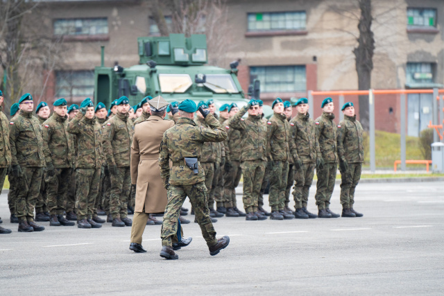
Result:
<svg viewBox="0 0 444 296"><path fill-rule="evenodd" d="M245 221L220 218L230 245L210 256L200 229L179 260L159 256L160 226L146 227L148 253L128 250L130 227L49 227L22 234L0 196L1 295L425 295L443 294L444 182L361 184L364 218ZM315 211L310 195L309 209ZM241 196L238 195L239 204ZM339 186L332 209L340 210ZM185 204L189 207L189 203ZM189 218L189 216L187 216Z"/></svg>

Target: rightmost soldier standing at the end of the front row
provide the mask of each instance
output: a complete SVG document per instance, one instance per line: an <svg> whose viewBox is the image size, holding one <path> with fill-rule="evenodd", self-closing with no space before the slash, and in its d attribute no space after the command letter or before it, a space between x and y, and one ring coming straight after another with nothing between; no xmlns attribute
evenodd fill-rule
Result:
<svg viewBox="0 0 444 296"><path fill-rule="evenodd" d="M355 106L345 103L341 109L344 119L338 125L338 156L341 171L341 204L343 217L362 217L353 209L355 189L361 179L364 162L364 129L356 120Z"/></svg>

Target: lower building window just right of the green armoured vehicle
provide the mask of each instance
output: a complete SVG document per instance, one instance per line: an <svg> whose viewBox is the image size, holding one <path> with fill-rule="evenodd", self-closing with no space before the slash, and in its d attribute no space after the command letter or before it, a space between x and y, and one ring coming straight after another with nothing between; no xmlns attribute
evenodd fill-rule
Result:
<svg viewBox="0 0 444 296"><path fill-rule="evenodd" d="M305 92L305 66L250 67L250 78L259 79L261 92Z"/></svg>

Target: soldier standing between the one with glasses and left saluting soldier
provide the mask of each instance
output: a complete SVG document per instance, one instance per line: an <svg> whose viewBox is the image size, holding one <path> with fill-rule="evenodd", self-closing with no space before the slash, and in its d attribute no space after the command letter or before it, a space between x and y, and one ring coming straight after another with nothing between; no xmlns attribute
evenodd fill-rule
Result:
<svg viewBox="0 0 444 296"><path fill-rule="evenodd" d="M46 192L51 220L49 226L74 226L63 216L67 200L69 177L72 173L74 143L67 132L67 101L53 103L53 115L42 124L43 152L46 161Z"/></svg>

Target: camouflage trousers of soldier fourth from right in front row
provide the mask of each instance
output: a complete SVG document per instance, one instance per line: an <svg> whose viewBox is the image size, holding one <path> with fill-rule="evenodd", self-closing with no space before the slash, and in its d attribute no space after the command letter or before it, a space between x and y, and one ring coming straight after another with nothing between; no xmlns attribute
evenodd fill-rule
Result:
<svg viewBox="0 0 444 296"><path fill-rule="evenodd" d="M288 175L289 162L275 162L270 172L270 193L268 195L271 211L279 211L285 207Z"/></svg>

